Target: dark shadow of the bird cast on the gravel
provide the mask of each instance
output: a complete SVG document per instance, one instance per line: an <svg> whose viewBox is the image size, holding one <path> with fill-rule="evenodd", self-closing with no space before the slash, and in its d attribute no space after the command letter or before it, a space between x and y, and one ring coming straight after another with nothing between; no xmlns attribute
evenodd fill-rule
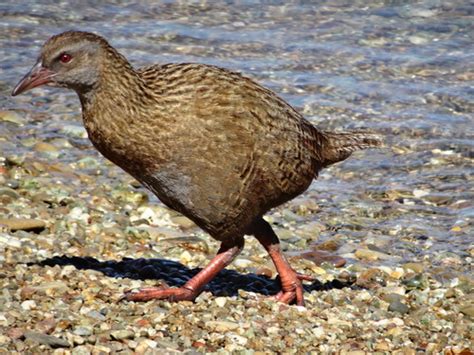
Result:
<svg viewBox="0 0 474 355"><path fill-rule="evenodd" d="M28 263L40 266L73 265L79 270L95 270L115 278L130 278L135 280L163 280L171 287L179 287L196 275L201 268L190 269L181 263L166 259L132 259L122 261L99 261L92 257L55 256L42 261ZM333 280L321 283L317 280L311 284L305 283L306 292L350 287L352 282ZM214 296L235 296L239 290L274 295L281 290L280 280L254 273L241 274L234 270L222 270L204 288Z"/></svg>

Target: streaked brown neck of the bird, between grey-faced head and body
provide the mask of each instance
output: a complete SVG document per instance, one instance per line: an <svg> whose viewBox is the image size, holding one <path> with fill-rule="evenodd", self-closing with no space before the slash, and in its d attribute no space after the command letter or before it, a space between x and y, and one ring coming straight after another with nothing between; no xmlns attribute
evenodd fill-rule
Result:
<svg viewBox="0 0 474 355"><path fill-rule="evenodd" d="M153 97L146 83L118 52L106 57L99 68L95 87L80 92L82 117L89 139L109 160L133 175L143 161L140 145L143 133L140 124L146 108L153 107ZM138 140L138 141L137 141Z"/></svg>

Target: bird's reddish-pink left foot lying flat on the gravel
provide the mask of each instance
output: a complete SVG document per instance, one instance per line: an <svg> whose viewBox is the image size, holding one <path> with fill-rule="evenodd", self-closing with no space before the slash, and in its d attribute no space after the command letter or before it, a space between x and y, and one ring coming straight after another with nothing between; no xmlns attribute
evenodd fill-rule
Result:
<svg viewBox="0 0 474 355"><path fill-rule="evenodd" d="M126 292L122 299L134 302L146 302L150 300L167 300L170 302L194 301L197 293L186 287L164 288L164 287L147 287L138 291Z"/></svg>

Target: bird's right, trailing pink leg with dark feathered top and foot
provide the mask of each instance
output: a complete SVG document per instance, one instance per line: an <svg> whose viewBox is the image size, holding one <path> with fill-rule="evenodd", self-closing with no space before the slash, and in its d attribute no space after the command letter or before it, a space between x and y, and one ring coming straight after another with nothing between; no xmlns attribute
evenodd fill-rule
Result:
<svg viewBox="0 0 474 355"><path fill-rule="evenodd" d="M278 236L263 218L254 222L251 231L268 254L270 254L275 268L280 275L282 290L274 296L274 299L288 304L296 301L298 306L304 306L304 290L301 280L312 281L313 278L298 274L292 269L281 252Z"/></svg>

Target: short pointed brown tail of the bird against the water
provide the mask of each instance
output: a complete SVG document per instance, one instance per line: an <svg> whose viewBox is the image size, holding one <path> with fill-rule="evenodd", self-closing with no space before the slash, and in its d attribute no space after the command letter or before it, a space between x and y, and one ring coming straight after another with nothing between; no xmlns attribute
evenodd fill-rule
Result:
<svg viewBox="0 0 474 355"><path fill-rule="evenodd" d="M352 152L380 147L382 138L368 131L321 132L323 136L322 165L328 166L348 158Z"/></svg>

